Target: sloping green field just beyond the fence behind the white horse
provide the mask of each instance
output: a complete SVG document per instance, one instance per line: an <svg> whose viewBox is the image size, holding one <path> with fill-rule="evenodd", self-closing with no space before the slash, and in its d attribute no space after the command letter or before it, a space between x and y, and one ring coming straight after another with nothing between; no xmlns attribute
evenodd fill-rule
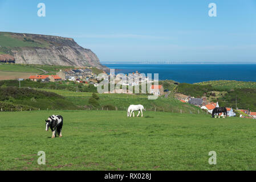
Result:
<svg viewBox="0 0 256 182"><path fill-rule="evenodd" d="M165 111L165 112L173 112L173 113L190 113L190 111L194 114L204 113L199 107L182 103L174 98L164 98L159 97L157 100L148 100L148 96L146 95L127 95L127 94L97 94L99 96L98 106L92 107L89 103L89 99L92 97L92 93L86 92L70 92L64 90L47 90L43 89L47 92L54 92L67 98L68 101L72 102L74 105L82 107L86 109L90 107L91 109L115 109L117 107L118 110L127 110L127 107L131 104L141 104L147 110L154 110L155 107L157 111Z"/></svg>

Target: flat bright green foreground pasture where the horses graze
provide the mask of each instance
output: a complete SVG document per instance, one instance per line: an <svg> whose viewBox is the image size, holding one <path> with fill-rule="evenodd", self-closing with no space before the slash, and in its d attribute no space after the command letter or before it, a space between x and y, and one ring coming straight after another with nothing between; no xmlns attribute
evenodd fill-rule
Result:
<svg viewBox="0 0 256 182"><path fill-rule="evenodd" d="M45 131L64 117L63 138ZM0 113L0 170L255 170L253 119L146 111L23 111ZM46 152L46 165L37 163ZM209 151L217 165L209 165Z"/></svg>

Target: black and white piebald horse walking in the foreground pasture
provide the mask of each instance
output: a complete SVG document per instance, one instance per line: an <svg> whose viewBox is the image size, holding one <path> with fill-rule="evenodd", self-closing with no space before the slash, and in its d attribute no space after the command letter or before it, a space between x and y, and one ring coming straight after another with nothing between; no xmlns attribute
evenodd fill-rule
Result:
<svg viewBox="0 0 256 182"><path fill-rule="evenodd" d="M48 131L50 127L52 131L51 138L55 138L57 134L59 137L62 137L62 125L63 117L61 115L51 115L46 120L46 131Z"/></svg>

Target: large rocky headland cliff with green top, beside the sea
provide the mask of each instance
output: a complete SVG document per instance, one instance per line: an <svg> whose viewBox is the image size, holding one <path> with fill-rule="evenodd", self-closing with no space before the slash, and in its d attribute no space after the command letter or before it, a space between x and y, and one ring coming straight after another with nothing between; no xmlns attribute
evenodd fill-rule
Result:
<svg viewBox="0 0 256 182"><path fill-rule="evenodd" d="M15 39L17 46L0 42L9 50L16 63L72 65L107 69L90 49L79 46L74 39L50 35L18 34L0 32L0 36ZM15 42L13 41L13 42Z"/></svg>

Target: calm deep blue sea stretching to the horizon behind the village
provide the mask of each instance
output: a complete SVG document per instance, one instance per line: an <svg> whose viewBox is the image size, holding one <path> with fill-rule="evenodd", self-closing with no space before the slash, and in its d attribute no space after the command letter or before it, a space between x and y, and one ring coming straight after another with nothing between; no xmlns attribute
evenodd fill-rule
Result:
<svg viewBox="0 0 256 182"><path fill-rule="evenodd" d="M115 73L159 73L159 80L195 83L210 80L256 81L256 64L104 64Z"/></svg>

